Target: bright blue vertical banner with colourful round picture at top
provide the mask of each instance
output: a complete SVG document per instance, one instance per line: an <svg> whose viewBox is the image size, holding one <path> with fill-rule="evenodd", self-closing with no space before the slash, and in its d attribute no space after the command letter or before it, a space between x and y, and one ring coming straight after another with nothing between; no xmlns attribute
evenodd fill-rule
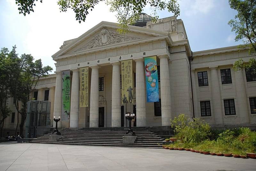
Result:
<svg viewBox="0 0 256 171"><path fill-rule="evenodd" d="M156 56L144 58L147 102L159 101Z"/></svg>

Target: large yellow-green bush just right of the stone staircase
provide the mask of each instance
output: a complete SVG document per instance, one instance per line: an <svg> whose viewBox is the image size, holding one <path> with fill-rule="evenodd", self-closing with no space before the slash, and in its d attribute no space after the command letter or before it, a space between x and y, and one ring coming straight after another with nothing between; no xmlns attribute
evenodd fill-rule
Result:
<svg viewBox="0 0 256 171"><path fill-rule="evenodd" d="M171 125L176 137L184 144L201 142L211 134L208 123L204 123L200 118L189 121L185 114L180 114L178 118L174 117Z"/></svg>

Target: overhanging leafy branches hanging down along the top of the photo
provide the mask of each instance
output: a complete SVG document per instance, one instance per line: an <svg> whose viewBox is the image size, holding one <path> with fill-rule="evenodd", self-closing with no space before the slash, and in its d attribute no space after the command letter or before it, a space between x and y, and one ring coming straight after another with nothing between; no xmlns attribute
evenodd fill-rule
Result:
<svg viewBox="0 0 256 171"><path fill-rule="evenodd" d="M34 12L33 6L36 6L38 0L15 0L19 6L18 10L20 14L26 16L30 12ZM43 1L40 0L42 3ZM76 14L76 20L81 23L85 21L89 11L92 11L94 6L99 2L105 2L110 5L110 11L117 11L116 18L120 23L118 31L125 33L128 30L128 25L134 24L138 19L138 13L140 13L146 4L149 4L152 8L152 15L154 20L158 19L156 12L158 10L167 9L169 12L174 13L175 16L180 15L180 6L177 0L168 0L167 2L161 0L58 0L60 6L60 12L66 12L68 9L72 9Z"/></svg>

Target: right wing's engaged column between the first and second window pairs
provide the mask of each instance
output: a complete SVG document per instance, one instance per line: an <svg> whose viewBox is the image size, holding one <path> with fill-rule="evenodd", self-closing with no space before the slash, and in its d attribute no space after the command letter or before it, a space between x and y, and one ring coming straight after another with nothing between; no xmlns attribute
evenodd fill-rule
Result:
<svg viewBox="0 0 256 171"><path fill-rule="evenodd" d="M211 67L211 80L212 80L212 103L213 109L212 117L214 118L215 124L223 124L223 113L222 113L222 100L220 98L220 83L217 72L218 67ZM209 81L209 80L208 80Z"/></svg>

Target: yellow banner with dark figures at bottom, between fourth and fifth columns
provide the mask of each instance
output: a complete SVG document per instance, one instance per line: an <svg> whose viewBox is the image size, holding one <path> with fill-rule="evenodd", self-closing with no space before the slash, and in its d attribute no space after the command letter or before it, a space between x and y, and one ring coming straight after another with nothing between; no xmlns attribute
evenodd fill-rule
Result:
<svg viewBox="0 0 256 171"><path fill-rule="evenodd" d="M122 103L133 103L132 60L121 62L122 71Z"/></svg>

